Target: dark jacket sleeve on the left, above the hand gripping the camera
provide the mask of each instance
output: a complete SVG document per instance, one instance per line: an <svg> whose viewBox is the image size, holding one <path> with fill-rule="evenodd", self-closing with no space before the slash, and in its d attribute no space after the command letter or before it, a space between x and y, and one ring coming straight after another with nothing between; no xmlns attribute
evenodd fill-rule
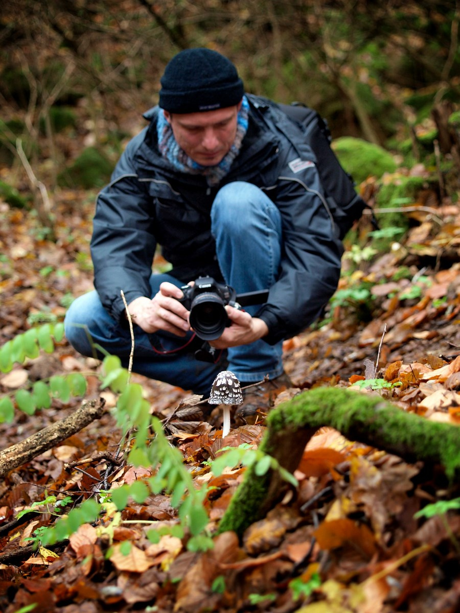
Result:
<svg viewBox="0 0 460 613"><path fill-rule="evenodd" d="M90 245L94 286L102 304L117 321L125 311L121 290L128 304L151 294L155 220L151 197L139 182L132 161L139 137L128 144L111 183L98 195Z"/></svg>

